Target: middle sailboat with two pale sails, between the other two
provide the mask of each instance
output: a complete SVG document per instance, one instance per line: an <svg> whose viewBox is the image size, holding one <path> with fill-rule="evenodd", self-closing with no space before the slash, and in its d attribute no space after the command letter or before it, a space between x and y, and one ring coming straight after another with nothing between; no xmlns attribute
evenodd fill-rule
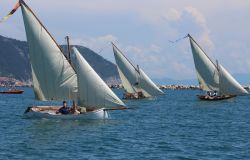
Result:
<svg viewBox="0 0 250 160"><path fill-rule="evenodd" d="M143 99L164 94L139 65L135 67L114 43L112 46L118 73L125 89L124 99Z"/></svg>

